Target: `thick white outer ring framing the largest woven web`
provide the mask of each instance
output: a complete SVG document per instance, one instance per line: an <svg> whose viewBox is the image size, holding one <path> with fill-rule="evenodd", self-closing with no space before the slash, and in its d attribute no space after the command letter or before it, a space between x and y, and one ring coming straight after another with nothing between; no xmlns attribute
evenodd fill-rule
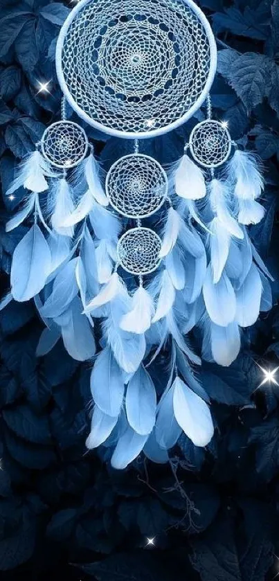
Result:
<svg viewBox="0 0 279 581"><path fill-rule="evenodd" d="M64 45L64 39L65 39L66 34L69 30L69 26L71 25L73 19L75 18L75 15L77 15L78 12L80 12L80 10L82 10L82 8L84 6L87 6L87 4L91 3L91 2L92 2L92 0L82 0L75 6L75 8L73 8L73 10L69 14L69 16L64 21L64 24L60 30L60 35L57 39L56 53L55 53L57 79L58 79L58 82L59 82L60 87L62 89L62 92L64 93L64 96L66 97L66 100L69 102L69 105L71 105L71 107L78 114L78 116L80 116L80 118L82 118L84 121L86 121L89 125L96 127L96 129L99 129L100 131L107 133L109 135L114 135L114 136L118 136L120 138L125 138L125 139L135 139L135 138L147 139L150 137L163 135L167 132L172 131L172 129L179 127L179 125L182 125L183 123L185 123L190 117L192 117L195 114L195 112L203 104L204 100L206 99L206 96L208 95L208 93L210 91L210 87L213 84L213 80L214 80L215 73L216 73L217 47L216 47L216 43L215 43L215 37L214 37L213 32L211 30L210 24L209 24L208 20L206 19L206 16L204 15L204 12L202 12L201 9L192 0L183 0L183 3L185 3L190 8L190 10L192 10L192 12L195 12L195 15L198 17L199 21L201 21L201 24L204 26L204 29L206 31L206 36L208 38L209 48L210 48L210 68L209 68L208 78L206 80L206 84L204 85L204 89L201 91L201 95L199 96L199 98L195 102L195 105L192 105L192 107L190 107L190 109L188 109L188 111L186 111L186 113L183 114L183 116L181 116L179 119L175 120L174 122L170 123L169 125L166 125L165 127L159 127L159 129L150 129L147 132L138 132L138 133L133 132L133 133L131 133L131 132L126 132L126 131L120 131L120 129L111 129L111 127L107 127L105 125L102 125L102 123L98 123L98 121L93 120L89 115L87 115L87 113L84 113L84 111L81 109L81 107L79 107L79 105L77 105L77 103L75 102L75 100L71 96L71 93L66 85L65 80L64 80L64 74L62 71L62 49L63 49L63 45Z"/></svg>

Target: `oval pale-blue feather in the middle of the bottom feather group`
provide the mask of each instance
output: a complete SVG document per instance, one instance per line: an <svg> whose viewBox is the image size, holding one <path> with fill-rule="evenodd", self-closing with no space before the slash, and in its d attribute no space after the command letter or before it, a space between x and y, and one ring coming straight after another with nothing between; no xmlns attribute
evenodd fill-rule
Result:
<svg viewBox="0 0 279 581"><path fill-rule="evenodd" d="M141 365L129 380L126 393L129 425L141 435L150 433L155 424L156 390L150 375Z"/></svg>

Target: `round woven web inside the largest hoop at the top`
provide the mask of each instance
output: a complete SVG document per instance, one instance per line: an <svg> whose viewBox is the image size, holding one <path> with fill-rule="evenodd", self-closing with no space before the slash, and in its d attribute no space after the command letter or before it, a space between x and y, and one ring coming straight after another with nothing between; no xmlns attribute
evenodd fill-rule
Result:
<svg viewBox="0 0 279 581"><path fill-rule="evenodd" d="M181 118L201 96L209 69L206 30L181 0L90 2L62 48L73 100L116 132L150 132Z"/></svg>

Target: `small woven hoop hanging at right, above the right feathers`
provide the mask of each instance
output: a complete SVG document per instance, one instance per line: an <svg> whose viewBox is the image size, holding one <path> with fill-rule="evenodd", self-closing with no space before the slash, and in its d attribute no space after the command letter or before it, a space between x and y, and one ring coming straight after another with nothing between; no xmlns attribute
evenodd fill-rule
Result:
<svg viewBox="0 0 279 581"><path fill-rule="evenodd" d="M231 136L224 123L208 119L192 129L189 147L197 163L204 168L217 168L231 153Z"/></svg>

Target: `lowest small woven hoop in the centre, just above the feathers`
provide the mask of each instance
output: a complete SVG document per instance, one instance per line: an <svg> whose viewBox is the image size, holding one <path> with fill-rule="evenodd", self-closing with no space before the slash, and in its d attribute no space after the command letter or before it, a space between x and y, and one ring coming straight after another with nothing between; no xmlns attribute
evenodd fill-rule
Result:
<svg viewBox="0 0 279 581"><path fill-rule="evenodd" d="M118 240L118 262L131 274L150 274L159 266L161 238L150 228L132 228Z"/></svg>

